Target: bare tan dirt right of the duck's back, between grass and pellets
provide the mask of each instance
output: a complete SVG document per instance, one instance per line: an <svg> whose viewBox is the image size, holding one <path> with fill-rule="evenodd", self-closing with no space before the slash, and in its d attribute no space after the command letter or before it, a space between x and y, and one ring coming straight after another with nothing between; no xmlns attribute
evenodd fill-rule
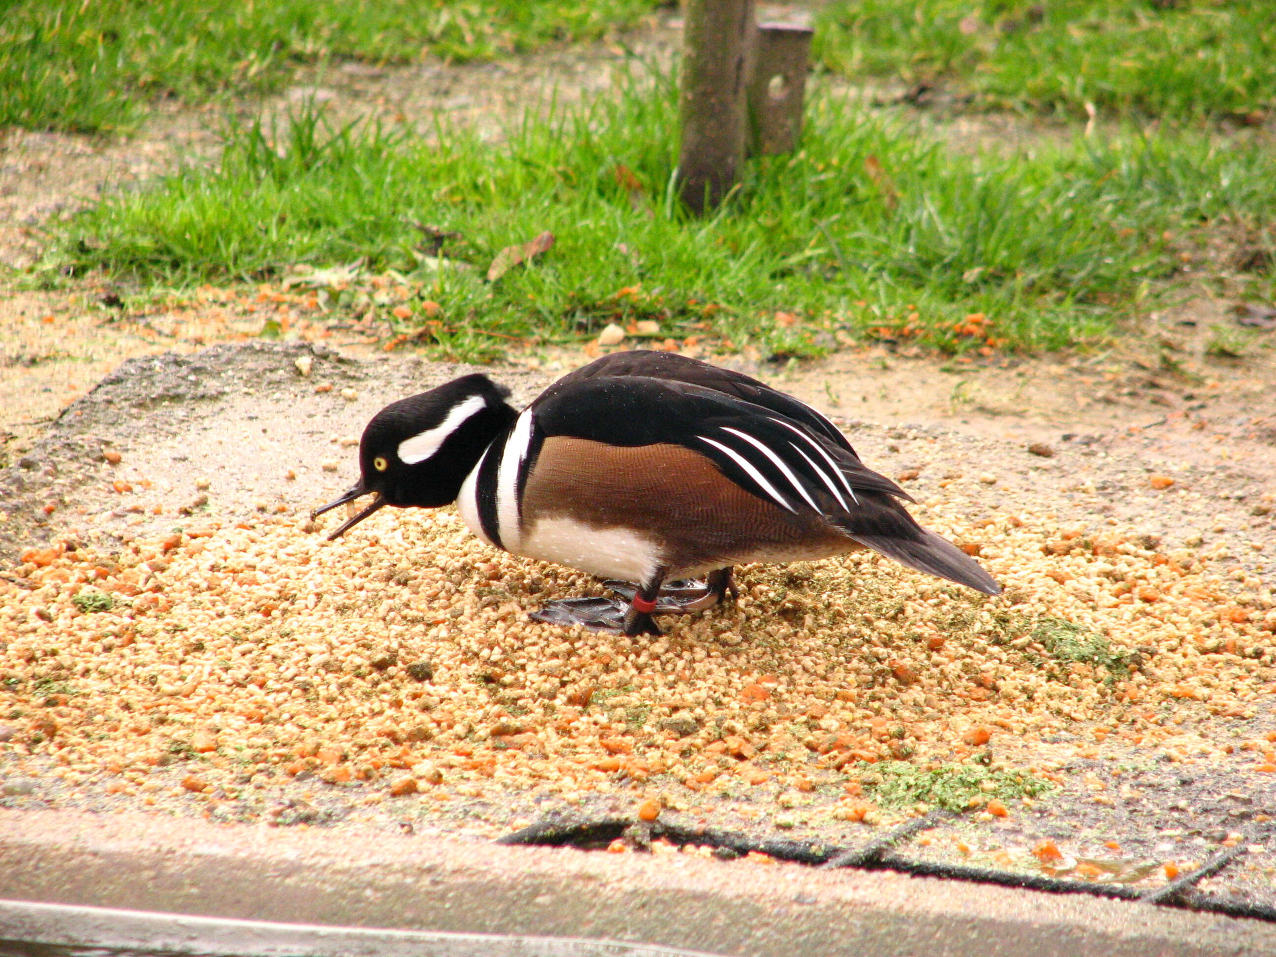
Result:
<svg viewBox="0 0 1276 957"><path fill-rule="evenodd" d="M1132 441L1184 464L1270 473L1276 336L1245 334L1244 353L1224 357L1208 352L1217 329L1245 332L1230 300L1194 300L1156 314L1143 336L1094 355L946 359L879 345L772 375L851 417L944 424L1023 444Z"/></svg>

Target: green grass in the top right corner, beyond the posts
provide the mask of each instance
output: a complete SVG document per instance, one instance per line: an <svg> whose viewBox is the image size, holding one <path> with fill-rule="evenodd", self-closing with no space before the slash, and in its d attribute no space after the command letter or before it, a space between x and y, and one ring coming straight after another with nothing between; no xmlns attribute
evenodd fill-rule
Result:
<svg viewBox="0 0 1276 957"><path fill-rule="evenodd" d="M1253 0L854 0L818 17L849 75L949 80L981 107L1197 120L1276 110L1276 15Z"/></svg>

